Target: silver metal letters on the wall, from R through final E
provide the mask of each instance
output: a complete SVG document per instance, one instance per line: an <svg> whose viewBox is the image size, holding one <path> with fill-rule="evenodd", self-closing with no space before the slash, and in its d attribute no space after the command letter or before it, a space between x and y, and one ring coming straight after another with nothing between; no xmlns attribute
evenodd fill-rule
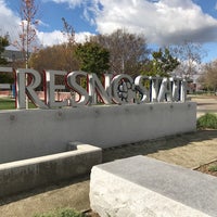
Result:
<svg viewBox="0 0 217 217"><path fill-rule="evenodd" d="M132 79L129 75L122 74L112 77L104 75L104 85L95 74L86 72L66 73L63 71L44 72L44 80L35 69L16 69L16 106L26 108L26 95L40 108L63 106L78 106L87 104L126 104L149 102L184 102L187 99L188 82L181 78L161 78L138 76ZM56 85L55 77L65 77L64 85ZM77 82L77 78L86 79L87 89ZM27 78L27 79L26 79ZM43 84L44 100L39 99L36 89ZM56 101L56 90L69 89L75 94L71 99Z"/></svg>

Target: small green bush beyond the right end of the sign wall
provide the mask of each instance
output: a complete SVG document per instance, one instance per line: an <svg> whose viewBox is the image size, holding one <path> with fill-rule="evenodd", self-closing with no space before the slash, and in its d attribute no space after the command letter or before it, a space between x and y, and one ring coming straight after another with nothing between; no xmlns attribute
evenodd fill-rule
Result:
<svg viewBox="0 0 217 217"><path fill-rule="evenodd" d="M217 129L217 115L206 113L205 115L199 117L196 127L197 129Z"/></svg>

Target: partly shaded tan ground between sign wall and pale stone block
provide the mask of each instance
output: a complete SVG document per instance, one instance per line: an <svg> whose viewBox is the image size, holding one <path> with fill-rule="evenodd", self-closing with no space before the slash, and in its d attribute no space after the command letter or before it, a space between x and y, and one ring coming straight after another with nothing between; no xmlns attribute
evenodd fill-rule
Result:
<svg viewBox="0 0 217 217"><path fill-rule="evenodd" d="M103 162L136 155L195 168L217 159L217 130L201 130L103 150Z"/></svg>

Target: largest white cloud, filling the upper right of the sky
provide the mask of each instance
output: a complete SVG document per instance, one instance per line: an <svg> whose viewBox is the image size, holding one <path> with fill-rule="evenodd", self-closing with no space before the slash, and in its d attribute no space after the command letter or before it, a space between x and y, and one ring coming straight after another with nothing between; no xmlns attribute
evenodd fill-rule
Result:
<svg viewBox="0 0 217 217"><path fill-rule="evenodd" d="M99 33L116 28L142 33L149 42L205 42L217 39L217 21L204 14L191 0L99 0L103 9L95 13Z"/></svg>

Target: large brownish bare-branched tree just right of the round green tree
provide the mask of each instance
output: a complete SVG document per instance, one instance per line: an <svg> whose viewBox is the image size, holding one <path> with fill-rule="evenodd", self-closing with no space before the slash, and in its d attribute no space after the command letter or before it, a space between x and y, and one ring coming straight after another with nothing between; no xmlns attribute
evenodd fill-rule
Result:
<svg viewBox="0 0 217 217"><path fill-rule="evenodd" d="M112 74L140 74L148 61L150 50L143 36L117 29L111 35L98 35L91 38L110 51L110 72Z"/></svg>

